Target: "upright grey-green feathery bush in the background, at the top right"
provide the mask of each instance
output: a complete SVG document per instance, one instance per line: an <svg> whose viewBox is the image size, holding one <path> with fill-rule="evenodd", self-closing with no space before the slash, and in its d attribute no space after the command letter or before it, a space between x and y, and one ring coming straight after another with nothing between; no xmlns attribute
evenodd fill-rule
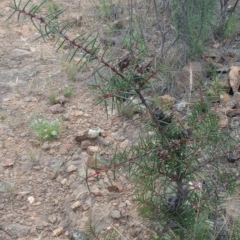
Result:
<svg viewBox="0 0 240 240"><path fill-rule="evenodd" d="M175 34L187 57L200 54L209 33L217 0L171 0Z"/></svg>

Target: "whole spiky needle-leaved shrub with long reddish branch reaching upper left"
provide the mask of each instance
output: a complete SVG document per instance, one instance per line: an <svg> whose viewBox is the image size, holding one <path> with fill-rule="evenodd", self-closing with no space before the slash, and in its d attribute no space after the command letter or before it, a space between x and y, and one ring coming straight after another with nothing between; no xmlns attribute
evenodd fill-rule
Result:
<svg viewBox="0 0 240 240"><path fill-rule="evenodd" d="M42 38L55 34L56 42L61 40L58 49L65 42L70 44L69 61L80 52L98 63L91 84L97 103L108 109L111 104L118 107L138 98L149 113L142 115L146 126L138 145L116 153L113 164L86 180L126 168L135 186L133 197L139 211L155 227L152 239L237 239L234 221L230 224L220 220L226 219L224 201L239 184L238 172L227 162L228 155L237 152L239 145L219 128L216 109L210 110L202 91L200 101L188 109L184 118L166 117L143 94L149 83L158 79L161 67L152 67L153 59L139 44L141 39L129 35L128 51L106 60L107 50L103 51L93 34L74 39L67 35L71 25L58 20L63 10L45 17L38 15L44 2L37 6L30 0L24 5L14 0L11 8L13 14L18 13L18 19L29 17Z"/></svg>

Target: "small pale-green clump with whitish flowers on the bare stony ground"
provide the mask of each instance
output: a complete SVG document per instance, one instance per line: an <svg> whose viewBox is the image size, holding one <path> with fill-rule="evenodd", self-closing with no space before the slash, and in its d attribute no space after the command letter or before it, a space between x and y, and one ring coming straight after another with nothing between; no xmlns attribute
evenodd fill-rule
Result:
<svg viewBox="0 0 240 240"><path fill-rule="evenodd" d="M31 123L31 129L38 138L42 140L53 140L59 136L60 122L58 119L49 121L38 118Z"/></svg>

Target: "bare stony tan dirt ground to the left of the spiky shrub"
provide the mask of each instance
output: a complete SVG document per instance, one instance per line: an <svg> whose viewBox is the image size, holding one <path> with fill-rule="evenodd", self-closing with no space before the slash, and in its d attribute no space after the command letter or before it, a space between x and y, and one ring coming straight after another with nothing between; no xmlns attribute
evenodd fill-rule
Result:
<svg viewBox="0 0 240 240"><path fill-rule="evenodd" d="M135 131L131 122L107 119L104 108L93 105L86 85L91 69L70 82L61 69L62 54L51 43L32 42L37 31L30 23L23 28L15 19L4 23L11 12L7 3L0 3L4 13L0 17L0 239L87 239L80 231L89 219L100 230L113 223L123 236L144 239L137 220L133 221L131 185L125 174L116 180L123 188L118 192L108 190L110 182L103 174L98 182L90 181L90 194L84 178L92 153L74 140L79 131L105 130L104 137L91 145L110 159L117 144L129 143L125 129L129 135ZM52 114L49 97L61 96L66 84L74 96L67 99L63 113ZM61 121L58 140L36 138L30 130L36 116Z"/></svg>

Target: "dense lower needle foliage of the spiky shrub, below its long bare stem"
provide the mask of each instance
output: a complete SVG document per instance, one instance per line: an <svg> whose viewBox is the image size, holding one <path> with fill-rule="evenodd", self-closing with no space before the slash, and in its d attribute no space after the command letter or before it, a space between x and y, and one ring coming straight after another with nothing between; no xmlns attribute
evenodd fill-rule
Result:
<svg viewBox="0 0 240 240"><path fill-rule="evenodd" d="M172 239L174 235L212 239L207 218L216 211L214 205L221 206L222 195L229 194L226 186L236 177L231 168L216 160L231 151L235 141L220 131L217 116L204 101L193 106L183 123L167 125L164 134L154 125L148 130L155 134L140 139L131 152L136 160L129 162L140 213L160 224L162 232L156 239L167 239L164 231L172 232ZM216 188L222 191L213 192Z"/></svg>

